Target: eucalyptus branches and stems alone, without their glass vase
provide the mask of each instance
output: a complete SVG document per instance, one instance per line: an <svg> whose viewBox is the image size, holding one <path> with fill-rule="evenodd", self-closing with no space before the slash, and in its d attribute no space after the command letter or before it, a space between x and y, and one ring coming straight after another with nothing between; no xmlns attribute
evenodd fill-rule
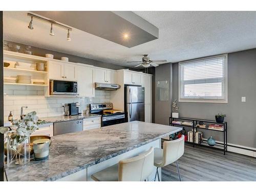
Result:
<svg viewBox="0 0 256 192"><path fill-rule="evenodd" d="M22 164L20 159L24 154L22 143L30 137L30 135L38 130L38 126L46 123L44 120L38 119L36 112L28 113L24 119L14 119L12 120L11 127L0 127L0 133L6 134L6 139L9 139L8 149L12 150L12 159L16 160L16 164Z"/></svg>

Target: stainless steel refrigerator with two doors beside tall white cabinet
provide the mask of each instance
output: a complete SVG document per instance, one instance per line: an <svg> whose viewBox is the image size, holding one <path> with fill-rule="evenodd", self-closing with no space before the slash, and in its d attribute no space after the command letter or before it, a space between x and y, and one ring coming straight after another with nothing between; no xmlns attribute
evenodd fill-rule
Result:
<svg viewBox="0 0 256 192"><path fill-rule="evenodd" d="M125 122L145 121L144 88L126 86L124 89Z"/></svg>

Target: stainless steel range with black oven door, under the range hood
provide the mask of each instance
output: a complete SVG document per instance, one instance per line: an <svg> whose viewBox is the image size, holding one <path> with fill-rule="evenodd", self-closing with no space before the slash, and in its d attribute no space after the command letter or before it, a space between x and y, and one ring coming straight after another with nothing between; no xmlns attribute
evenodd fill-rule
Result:
<svg viewBox="0 0 256 192"><path fill-rule="evenodd" d="M101 115L101 126L124 123L123 111L113 110L113 103L90 104L90 113Z"/></svg>

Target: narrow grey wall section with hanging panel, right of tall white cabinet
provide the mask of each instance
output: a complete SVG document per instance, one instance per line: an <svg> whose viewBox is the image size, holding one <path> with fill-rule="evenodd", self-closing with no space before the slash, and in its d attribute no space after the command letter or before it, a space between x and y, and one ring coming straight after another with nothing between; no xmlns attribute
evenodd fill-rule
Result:
<svg viewBox="0 0 256 192"><path fill-rule="evenodd" d="M170 106L172 101L171 100L171 96L172 96L171 71L172 71L172 65L170 63L162 64L155 68L155 83L154 83L154 91L153 91L153 93L155 92L154 93L155 98L157 98L156 97L157 92L155 91L157 81L165 81L165 80L169 81L169 90L170 90L168 101L157 101L156 99L154 99L155 100L155 114L154 114L155 123L169 125L169 117L171 113Z"/></svg>

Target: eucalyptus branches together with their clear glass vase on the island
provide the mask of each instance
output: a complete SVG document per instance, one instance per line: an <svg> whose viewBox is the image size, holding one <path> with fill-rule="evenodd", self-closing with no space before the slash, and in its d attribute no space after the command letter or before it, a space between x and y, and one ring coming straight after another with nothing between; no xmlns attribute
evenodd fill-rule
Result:
<svg viewBox="0 0 256 192"><path fill-rule="evenodd" d="M0 133L6 134L7 166L23 165L30 161L30 135L38 130L38 125L46 121L38 119L36 112L28 113L23 119L12 120L11 127L0 127Z"/></svg>

